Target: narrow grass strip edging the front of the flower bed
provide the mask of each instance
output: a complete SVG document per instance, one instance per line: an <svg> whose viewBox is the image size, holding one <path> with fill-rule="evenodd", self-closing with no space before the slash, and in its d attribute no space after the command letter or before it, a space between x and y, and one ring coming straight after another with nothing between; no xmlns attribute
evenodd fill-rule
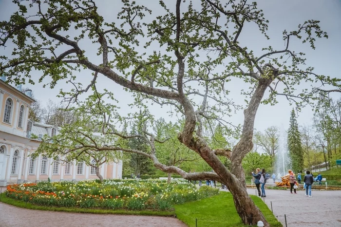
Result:
<svg viewBox="0 0 341 227"><path fill-rule="evenodd" d="M23 201L18 201L6 196L3 192L1 195L2 203L13 205L19 208L37 209L37 210L48 210L48 211L63 211L73 213L95 213L95 214L126 214L126 215L152 215L152 216L174 216L173 211L157 211L157 210L124 210L124 209L91 209L91 208L56 208L56 207L45 207L38 206Z"/></svg>

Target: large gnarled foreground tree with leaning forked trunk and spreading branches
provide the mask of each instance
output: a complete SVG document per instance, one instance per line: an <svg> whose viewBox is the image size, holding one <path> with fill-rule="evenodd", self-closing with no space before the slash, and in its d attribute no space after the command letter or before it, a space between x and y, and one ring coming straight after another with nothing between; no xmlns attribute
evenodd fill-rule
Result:
<svg viewBox="0 0 341 227"><path fill-rule="evenodd" d="M295 90L301 82L311 82L314 92L318 83L340 89L335 79L317 75L311 67L303 68L304 53L290 49L293 39L301 39L314 49L316 38L327 38L319 21L303 21L297 30L284 30L285 47L281 50L271 46L251 50L239 40L244 36L250 42L257 41L252 34L243 32L249 24L256 25L268 38L268 21L255 2L198 0L194 5L191 1L160 1L153 12L134 1L122 2L122 7L115 7L117 14L115 9L111 12L111 19L99 14L94 0L14 0L18 12L0 22L0 46L13 44L8 54L0 56L0 74L6 74L9 82L34 83L32 75L38 77L40 73L39 81L49 77L51 88L67 81L75 87L61 91L61 95L70 102L78 100L98 77L104 76L109 79L107 89L114 91L120 85L130 91L137 108L148 108L146 102L171 106L171 113L185 117L179 141L199 154L215 172L188 173L160 163L154 145L158 139L148 130L134 136L148 141L150 152L121 150L145 155L156 168L185 179L222 182L232 193L244 223L262 220L268 226L247 194L242 160L253 147L254 121L262 100L275 104L276 96L284 95L297 106L311 102L314 93ZM94 50L101 59L89 53ZM93 72L92 79L83 87L79 82L86 82L89 71ZM232 152L214 150L203 136L203 122L217 120L229 125L229 115L240 106L233 102L228 87L238 79L246 84L240 140ZM267 90L269 95L264 98ZM104 133L120 135L109 127L110 121L106 124ZM230 159L230 171L218 155Z"/></svg>

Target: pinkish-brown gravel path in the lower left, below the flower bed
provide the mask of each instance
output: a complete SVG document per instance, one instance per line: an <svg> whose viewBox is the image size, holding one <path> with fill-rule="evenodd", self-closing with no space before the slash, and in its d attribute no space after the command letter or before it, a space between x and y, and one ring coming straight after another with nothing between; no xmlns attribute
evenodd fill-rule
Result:
<svg viewBox="0 0 341 227"><path fill-rule="evenodd" d="M176 218L83 214L17 208L0 203L0 227L186 227Z"/></svg>

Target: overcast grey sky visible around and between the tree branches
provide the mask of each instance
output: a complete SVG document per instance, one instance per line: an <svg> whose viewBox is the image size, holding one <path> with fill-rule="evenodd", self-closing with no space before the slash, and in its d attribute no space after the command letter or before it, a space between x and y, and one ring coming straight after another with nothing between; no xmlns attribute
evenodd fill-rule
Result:
<svg viewBox="0 0 341 227"><path fill-rule="evenodd" d="M143 2L148 8L158 10L158 0L138 0ZM195 3L196 0L193 0ZM265 19L268 19L269 29L267 35L270 40L265 40L263 35L254 26L248 26L240 37L240 43L247 46L248 50L254 50L257 54L263 47L271 45L274 49L283 49L284 41L282 40L282 31L294 30L298 24L303 23L308 19L321 20L322 30L328 33L328 39L320 39L316 41L316 50L312 50L308 44L303 45L301 42L293 42L290 44L291 49L296 52L306 53L307 65L315 67L315 73L323 74L331 77L341 77L341 0L258 0L258 8L263 9ZM96 0L99 11L105 18L115 19L117 9L121 5L119 0ZM174 4L175 5L175 4ZM10 15L17 10L17 7L12 3L12 0L0 0L0 20L9 19ZM72 35L72 34L71 34ZM91 46L88 47L87 56L91 53ZM97 47L95 47L97 48ZM0 49L0 55L8 51L8 49ZM144 51L144 50L142 50ZM92 56L94 61L99 62L101 57ZM82 82L86 84L91 79L91 72L84 71L81 73ZM33 78L37 76L33 75ZM303 86L303 85L301 85ZM60 88L65 88L66 85L59 83L53 90L49 88L42 88L42 84L29 85L34 90L37 99L42 103L46 103L48 99L53 101L60 101L56 97ZM121 100L121 113L126 114L130 112L130 107L126 103L132 100L130 94L123 91L123 89L114 84L108 78L101 76L97 81L98 88L107 88L114 92L114 94ZM248 86L247 86L248 87ZM235 102L244 104L244 98L240 95L240 89L247 87L244 82L234 82L231 88L231 93L235 94ZM340 95L336 96L340 97ZM127 101L123 101L123 98ZM292 107L289 106L285 97L278 97L279 104L276 106L261 105L256 115L255 128L257 130L264 130L265 128L277 125L287 127L289 121L289 114ZM152 113L156 116L165 117L164 108L153 106ZM311 108L303 109L299 116L300 124L309 124L313 113ZM167 118L167 117L166 117ZM234 124L243 123L242 112L236 114L232 118Z"/></svg>

